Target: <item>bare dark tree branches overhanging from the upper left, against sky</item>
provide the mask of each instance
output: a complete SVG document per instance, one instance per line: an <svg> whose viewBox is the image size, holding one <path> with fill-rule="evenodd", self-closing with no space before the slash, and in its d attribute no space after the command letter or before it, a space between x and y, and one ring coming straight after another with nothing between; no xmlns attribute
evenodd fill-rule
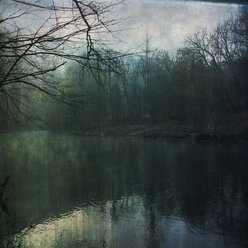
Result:
<svg viewBox="0 0 248 248"><path fill-rule="evenodd" d="M55 71L68 60L89 68L113 60L103 39L119 21L111 13L121 2L0 0L1 108L19 109L18 99L28 97L22 92L30 89L65 101Z"/></svg>

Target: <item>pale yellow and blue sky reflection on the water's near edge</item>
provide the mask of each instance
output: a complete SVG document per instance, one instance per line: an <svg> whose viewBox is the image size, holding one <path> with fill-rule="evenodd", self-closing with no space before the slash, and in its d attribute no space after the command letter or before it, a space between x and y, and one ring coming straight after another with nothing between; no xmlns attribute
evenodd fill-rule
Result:
<svg viewBox="0 0 248 248"><path fill-rule="evenodd" d="M156 238L161 247L238 247L230 238L194 229L180 218L162 216L158 212L156 232L150 235L149 216L143 199L131 196L102 206L82 207L50 219L26 231L22 239L27 247L46 248L135 248L147 247L147 244L156 247Z"/></svg>

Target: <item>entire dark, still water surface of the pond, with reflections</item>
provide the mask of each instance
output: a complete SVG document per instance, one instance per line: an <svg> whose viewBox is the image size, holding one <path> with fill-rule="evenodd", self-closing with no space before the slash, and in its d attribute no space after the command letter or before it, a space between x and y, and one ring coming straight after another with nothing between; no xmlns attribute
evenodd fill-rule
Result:
<svg viewBox="0 0 248 248"><path fill-rule="evenodd" d="M248 145L0 136L0 244L247 247Z"/></svg>

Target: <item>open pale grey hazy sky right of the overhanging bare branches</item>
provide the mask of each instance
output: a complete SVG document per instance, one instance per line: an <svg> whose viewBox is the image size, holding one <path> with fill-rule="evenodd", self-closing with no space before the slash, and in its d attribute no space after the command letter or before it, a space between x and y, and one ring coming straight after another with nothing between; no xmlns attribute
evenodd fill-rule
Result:
<svg viewBox="0 0 248 248"><path fill-rule="evenodd" d="M146 30L153 48L173 50L183 45L185 37L196 30L212 29L217 23L235 16L236 4L173 0L128 0L120 16L129 18L121 34L122 46L143 49ZM126 45L125 45L126 44Z"/></svg>

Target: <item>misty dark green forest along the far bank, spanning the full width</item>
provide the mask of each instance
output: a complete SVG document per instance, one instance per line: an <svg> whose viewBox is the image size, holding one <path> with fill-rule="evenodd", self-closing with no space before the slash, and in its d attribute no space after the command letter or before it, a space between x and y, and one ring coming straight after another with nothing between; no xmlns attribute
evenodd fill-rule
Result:
<svg viewBox="0 0 248 248"><path fill-rule="evenodd" d="M87 7L89 16L101 16L110 6ZM49 20L25 36L20 27L13 32L7 29L5 23L11 18L1 22L0 36L3 132L248 136L248 11L244 6L214 30L202 28L189 35L174 52L154 48L149 30L142 52L95 46L89 32L113 22L99 19L92 27L86 20L87 49L79 45L81 55L72 55L64 48L71 44L65 43L81 31L57 34L71 21L63 19L45 32ZM77 22L78 16L74 18Z"/></svg>

